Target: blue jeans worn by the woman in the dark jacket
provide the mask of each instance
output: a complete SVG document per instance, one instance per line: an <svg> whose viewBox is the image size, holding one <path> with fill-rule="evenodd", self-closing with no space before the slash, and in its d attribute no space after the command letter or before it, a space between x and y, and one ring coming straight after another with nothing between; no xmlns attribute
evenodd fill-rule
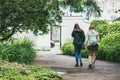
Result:
<svg viewBox="0 0 120 80"><path fill-rule="evenodd" d="M81 45L75 44L74 51L75 51L74 53L75 53L76 64L78 64L79 61L82 62Z"/></svg>

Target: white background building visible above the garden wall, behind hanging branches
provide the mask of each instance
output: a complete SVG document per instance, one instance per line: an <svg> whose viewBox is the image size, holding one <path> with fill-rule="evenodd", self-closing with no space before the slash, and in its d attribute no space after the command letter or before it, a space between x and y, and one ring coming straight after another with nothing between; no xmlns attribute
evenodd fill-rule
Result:
<svg viewBox="0 0 120 80"><path fill-rule="evenodd" d="M96 0L98 6L102 10L101 17L91 16L88 20L91 22L94 19L107 20L112 22L114 19L120 17L120 0ZM69 10L63 10L65 16L83 16L86 17L85 13L74 13L69 12Z"/></svg>

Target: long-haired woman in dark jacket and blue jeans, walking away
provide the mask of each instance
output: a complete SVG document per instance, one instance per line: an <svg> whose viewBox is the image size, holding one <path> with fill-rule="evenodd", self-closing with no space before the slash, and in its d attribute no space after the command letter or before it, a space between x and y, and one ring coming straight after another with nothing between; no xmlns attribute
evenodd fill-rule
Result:
<svg viewBox="0 0 120 80"><path fill-rule="evenodd" d="M79 66L79 61L80 61L80 66L83 66L81 48L82 48L82 44L85 42L84 31L76 23L74 25L74 30L72 31L71 35L74 38L73 45L74 45L74 53L75 53L75 59L76 59L75 67Z"/></svg>

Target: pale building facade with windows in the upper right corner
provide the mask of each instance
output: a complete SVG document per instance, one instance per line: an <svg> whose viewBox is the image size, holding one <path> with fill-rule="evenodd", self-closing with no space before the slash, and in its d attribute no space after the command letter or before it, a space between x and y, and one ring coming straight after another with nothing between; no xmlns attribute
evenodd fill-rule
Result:
<svg viewBox="0 0 120 80"><path fill-rule="evenodd" d="M98 5L103 10L101 19L112 21L120 17L120 0L97 0Z"/></svg>

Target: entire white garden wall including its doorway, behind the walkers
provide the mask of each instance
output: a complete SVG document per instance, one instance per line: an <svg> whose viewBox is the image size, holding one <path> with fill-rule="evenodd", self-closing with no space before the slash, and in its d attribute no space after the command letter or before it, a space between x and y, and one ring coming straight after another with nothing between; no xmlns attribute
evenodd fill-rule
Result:
<svg viewBox="0 0 120 80"><path fill-rule="evenodd" d="M48 50L50 49L50 42L57 41L57 45L63 45L67 40L72 39L71 33L74 28L74 24L78 23L85 31L88 30L89 23L84 21L83 17L80 16L63 16L63 22L61 24L51 26L51 31L46 35L35 36L32 32L17 33L14 37L23 39L27 37L33 42L34 47L37 49Z"/></svg>

